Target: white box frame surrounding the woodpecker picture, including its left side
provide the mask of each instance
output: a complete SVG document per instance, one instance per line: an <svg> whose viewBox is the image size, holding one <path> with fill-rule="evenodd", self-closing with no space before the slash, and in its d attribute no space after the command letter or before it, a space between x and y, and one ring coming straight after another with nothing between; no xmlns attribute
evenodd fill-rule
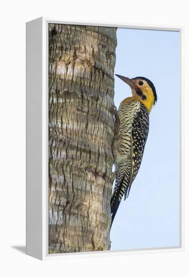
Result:
<svg viewBox="0 0 189 277"><path fill-rule="evenodd" d="M180 32L180 246L161 249L138 249L102 252L48 254L48 24L77 24ZM64 22L38 18L26 24L26 253L41 260L71 258L73 255L125 255L165 251L183 251L183 27L116 24L112 22ZM35 172L35 174L34 174Z"/></svg>

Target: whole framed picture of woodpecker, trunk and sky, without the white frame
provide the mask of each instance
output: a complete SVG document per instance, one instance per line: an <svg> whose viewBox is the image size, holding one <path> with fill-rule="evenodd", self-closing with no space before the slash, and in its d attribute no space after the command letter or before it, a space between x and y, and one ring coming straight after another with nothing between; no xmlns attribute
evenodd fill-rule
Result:
<svg viewBox="0 0 189 277"><path fill-rule="evenodd" d="M49 24L49 254L179 247L180 34Z"/></svg>

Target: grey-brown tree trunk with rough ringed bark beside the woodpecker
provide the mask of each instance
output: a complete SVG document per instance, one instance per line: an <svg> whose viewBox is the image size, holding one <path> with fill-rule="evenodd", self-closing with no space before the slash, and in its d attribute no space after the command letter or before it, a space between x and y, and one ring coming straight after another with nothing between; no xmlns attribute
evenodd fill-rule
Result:
<svg viewBox="0 0 189 277"><path fill-rule="evenodd" d="M49 24L49 253L110 249L116 28Z"/></svg>

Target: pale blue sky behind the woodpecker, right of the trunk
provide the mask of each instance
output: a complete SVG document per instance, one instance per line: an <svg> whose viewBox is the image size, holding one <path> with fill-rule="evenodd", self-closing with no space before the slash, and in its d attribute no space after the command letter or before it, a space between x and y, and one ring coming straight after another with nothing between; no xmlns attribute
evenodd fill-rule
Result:
<svg viewBox="0 0 189 277"><path fill-rule="evenodd" d="M157 104L139 173L122 199L111 230L111 250L179 245L179 32L117 30L115 74L150 79ZM115 76L115 105L131 96Z"/></svg>

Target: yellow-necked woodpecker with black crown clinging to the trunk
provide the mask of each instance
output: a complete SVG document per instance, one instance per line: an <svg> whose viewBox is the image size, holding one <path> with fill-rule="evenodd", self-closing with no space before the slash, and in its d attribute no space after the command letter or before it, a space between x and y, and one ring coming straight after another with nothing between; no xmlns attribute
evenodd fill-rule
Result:
<svg viewBox="0 0 189 277"><path fill-rule="evenodd" d="M157 101L155 87L147 78L116 76L131 87L133 96L121 102L115 116L119 128L113 143L116 183L111 197L112 223L123 195L125 200L139 171L148 136L149 113Z"/></svg>

